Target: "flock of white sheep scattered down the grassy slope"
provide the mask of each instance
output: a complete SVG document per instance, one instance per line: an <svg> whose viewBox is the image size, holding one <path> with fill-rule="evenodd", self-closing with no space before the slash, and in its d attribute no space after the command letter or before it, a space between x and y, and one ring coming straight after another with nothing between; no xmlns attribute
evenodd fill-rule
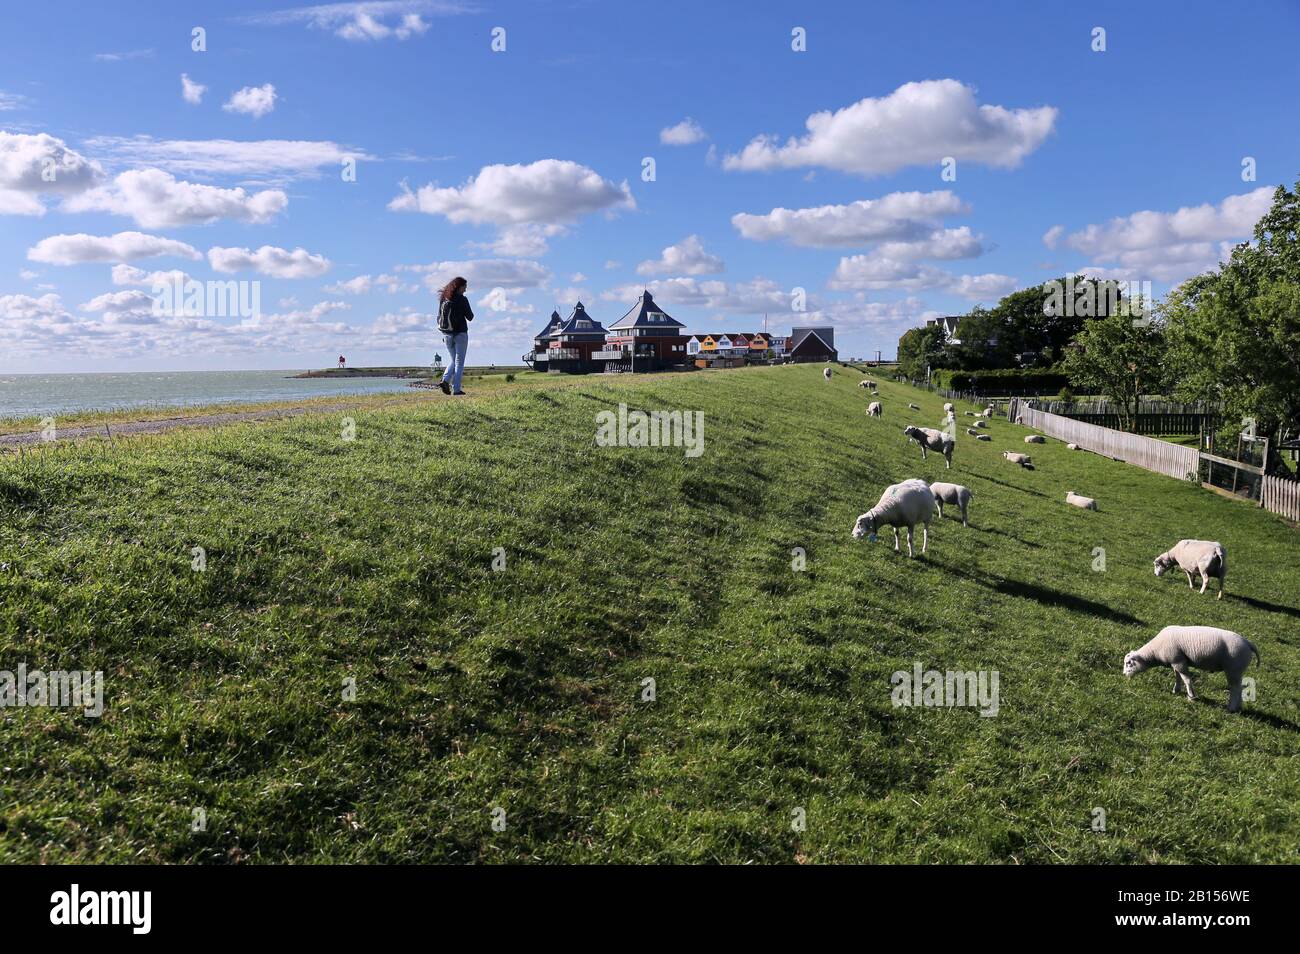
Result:
<svg viewBox="0 0 1300 954"><path fill-rule="evenodd" d="M829 381L831 369L827 368L824 374L826 380ZM858 386L867 389L871 396L875 398L867 406L867 416L880 417L883 408L876 383L863 380ZM907 407L913 411L920 409L915 404L909 404ZM956 408L952 404L944 404L944 413L948 426L952 432L956 432ZM992 406L979 413L967 411L966 415L980 419L975 421L976 426L967 428L966 433L980 441L991 441L992 438L987 433L983 433L983 430L988 426L987 419L993 416ZM920 445L922 460L926 459L928 451L935 451L944 456L944 469L952 469L953 450L957 443L953 433L935 428L907 425L904 428L904 434L909 441L915 441ZM1044 443L1045 438L1041 434L1031 434L1024 438L1024 442ZM1070 450L1078 450L1075 445L1070 445L1069 447ZM1032 459L1027 454L1004 451L1002 456L1026 469L1034 469ZM858 517L853 526L853 537L854 539L864 537L867 541L875 542L879 538L878 534L881 528L888 526L893 530L894 552L898 552L898 530L900 528L906 528L907 556L913 556L913 532L919 524L922 528L920 552L924 554L930 545L930 522L936 509L939 517L942 519L944 504L958 508L962 526L968 526L967 512L972 496L974 494L970 487L965 487L961 483L937 481L926 483L926 481L918 478L892 483L885 487L876 506ZM1075 494L1072 490L1066 493L1066 503L1082 509L1097 509L1097 502L1093 498ZM1200 591L1202 594L1210 578L1217 578L1217 599L1223 598L1223 581L1227 577L1227 551L1222 543L1202 539L1179 541L1173 548L1156 558L1156 576L1162 576L1174 567L1178 567L1187 574L1187 585L1192 590L1196 589L1193 580L1199 576L1201 580ZM1188 673L1190 668L1195 667L1204 672L1223 672L1227 676L1228 684L1227 710L1228 712L1239 712L1242 710L1242 676L1249 665L1252 656L1256 665L1258 665L1258 650L1239 633L1216 626L1165 626L1145 646L1124 656L1123 673L1124 676L1134 676L1152 667L1167 665L1174 671L1174 691L1176 693L1182 685L1187 691L1187 698L1195 699L1192 678Z"/></svg>

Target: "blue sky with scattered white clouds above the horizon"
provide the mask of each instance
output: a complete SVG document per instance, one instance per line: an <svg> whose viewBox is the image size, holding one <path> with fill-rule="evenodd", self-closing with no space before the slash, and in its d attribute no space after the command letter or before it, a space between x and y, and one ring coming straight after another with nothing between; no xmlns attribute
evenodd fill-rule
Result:
<svg viewBox="0 0 1300 954"><path fill-rule="evenodd" d="M424 364L452 274L472 364L642 286L889 356L1065 272L1162 294L1300 175L1284 0L178 6L3 13L0 372ZM176 270L260 312L160 313Z"/></svg>

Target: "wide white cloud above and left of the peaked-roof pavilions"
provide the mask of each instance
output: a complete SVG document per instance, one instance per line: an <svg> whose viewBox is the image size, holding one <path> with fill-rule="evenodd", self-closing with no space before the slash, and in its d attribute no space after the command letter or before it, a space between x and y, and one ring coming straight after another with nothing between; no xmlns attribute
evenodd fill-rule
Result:
<svg viewBox="0 0 1300 954"><path fill-rule="evenodd" d="M585 165L542 159L528 165L486 165L463 186L433 185L389 203L394 212L446 216L456 225L563 225L593 212L634 209L627 182L601 178Z"/></svg>

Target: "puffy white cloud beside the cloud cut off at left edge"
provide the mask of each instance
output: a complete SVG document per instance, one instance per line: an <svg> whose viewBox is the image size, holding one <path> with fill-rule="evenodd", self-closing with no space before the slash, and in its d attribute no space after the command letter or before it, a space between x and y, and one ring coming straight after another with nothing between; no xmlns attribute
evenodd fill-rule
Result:
<svg viewBox="0 0 1300 954"><path fill-rule="evenodd" d="M110 212L130 216L144 229L205 225L221 218L266 222L283 212L289 196L280 190L246 192L182 182L161 169L133 169L112 183L64 200L66 212Z"/></svg>

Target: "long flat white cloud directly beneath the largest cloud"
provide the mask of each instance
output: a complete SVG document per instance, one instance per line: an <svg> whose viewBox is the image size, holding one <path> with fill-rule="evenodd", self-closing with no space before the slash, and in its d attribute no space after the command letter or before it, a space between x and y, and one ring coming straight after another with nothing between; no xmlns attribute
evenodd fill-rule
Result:
<svg viewBox="0 0 1300 954"><path fill-rule="evenodd" d="M732 216L732 225L744 238L755 242L781 239L796 246L831 248L918 239L931 233L945 216L967 212L970 207L946 190L890 192L846 205L776 208L762 216L740 212Z"/></svg>

